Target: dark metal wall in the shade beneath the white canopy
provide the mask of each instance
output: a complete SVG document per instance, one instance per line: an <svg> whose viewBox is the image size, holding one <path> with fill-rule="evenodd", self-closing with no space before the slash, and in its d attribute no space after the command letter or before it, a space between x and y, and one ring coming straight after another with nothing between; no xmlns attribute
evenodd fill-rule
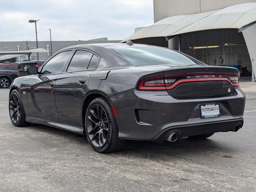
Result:
<svg viewBox="0 0 256 192"><path fill-rule="evenodd" d="M244 43L224 46L225 43ZM192 50L194 46L215 46ZM237 65L238 55L248 55L244 37L237 29L215 29L181 34L181 51L210 65ZM214 61L216 60L216 61Z"/></svg>

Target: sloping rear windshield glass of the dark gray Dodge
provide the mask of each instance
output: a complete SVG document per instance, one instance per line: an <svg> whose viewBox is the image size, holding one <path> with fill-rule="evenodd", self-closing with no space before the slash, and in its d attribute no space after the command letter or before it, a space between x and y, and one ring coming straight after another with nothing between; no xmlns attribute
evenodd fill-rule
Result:
<svg viewBox="0 0 256 192"><path fill-rule="evenodd" d="M196 65L190 58L170 49L155 46L106 46L120 54L134 66L142 65Z"/></svg>

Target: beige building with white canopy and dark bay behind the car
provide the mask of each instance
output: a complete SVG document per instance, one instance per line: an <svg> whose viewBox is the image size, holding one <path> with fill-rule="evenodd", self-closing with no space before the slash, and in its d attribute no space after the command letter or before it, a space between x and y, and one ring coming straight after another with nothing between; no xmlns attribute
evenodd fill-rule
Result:
<svg viewBox="0 0 256 192"><path fill-rule="evenodd" d="M256 0L154 0L155 23L122 40L168 47L256 74Z"/></svg>

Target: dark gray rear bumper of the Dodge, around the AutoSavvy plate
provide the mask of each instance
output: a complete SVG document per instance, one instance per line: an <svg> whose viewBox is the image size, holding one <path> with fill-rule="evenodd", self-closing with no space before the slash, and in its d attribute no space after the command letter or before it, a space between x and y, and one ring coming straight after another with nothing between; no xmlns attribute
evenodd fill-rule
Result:
<svg viewBox="0 0 256 192"><path fill-rule="evenodd" d="M179 137L232 131L243 125L245 94L236 88L232 96L174 99L165 91L128 90L110 96L116 111L119 138L167 140L172 132ZM202 119L200 104L218 103L220 117Z"/></svg>

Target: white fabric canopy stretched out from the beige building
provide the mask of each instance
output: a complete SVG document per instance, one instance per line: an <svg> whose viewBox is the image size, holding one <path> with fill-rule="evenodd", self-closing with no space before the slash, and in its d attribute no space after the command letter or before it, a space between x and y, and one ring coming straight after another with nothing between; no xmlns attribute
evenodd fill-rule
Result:
<svg viewBox="0 0 256 192"><path fill-rule="evenodd" d="M220 10L168 17L138 30L121 42L126 42L130 39L167 37L210 29L239 29L254 21L256 21L256 2L244 3Z"/></svg>

